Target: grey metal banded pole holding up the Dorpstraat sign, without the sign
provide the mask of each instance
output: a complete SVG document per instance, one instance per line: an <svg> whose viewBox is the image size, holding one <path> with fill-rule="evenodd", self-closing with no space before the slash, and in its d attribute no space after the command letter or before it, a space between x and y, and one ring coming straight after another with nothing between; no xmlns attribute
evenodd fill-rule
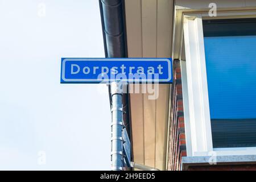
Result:
<svg viewBox="0 0 256 182"><path fill-rule="evenodd" d="M111 145L111 160L112 171L122 171L123 167L123 106L122 82L111 83L112 94L112 145Z"/></svg>

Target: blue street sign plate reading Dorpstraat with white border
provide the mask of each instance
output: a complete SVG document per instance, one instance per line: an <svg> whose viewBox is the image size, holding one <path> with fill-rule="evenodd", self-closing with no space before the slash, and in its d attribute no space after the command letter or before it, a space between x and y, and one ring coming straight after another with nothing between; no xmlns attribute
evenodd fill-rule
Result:
<svg viewBox="0 0 256 182"><path fill-rule="evenodd" d="M61 83L172 82L170 58L62 58Z"/></svg>

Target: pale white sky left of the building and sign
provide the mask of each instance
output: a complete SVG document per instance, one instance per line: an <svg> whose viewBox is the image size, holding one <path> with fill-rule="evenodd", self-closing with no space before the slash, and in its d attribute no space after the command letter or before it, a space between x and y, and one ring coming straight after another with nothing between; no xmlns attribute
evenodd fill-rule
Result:
<svg viewBox="0 0 256 182"><path fill-rule="evenodd" d="M104 56L97 0L0 0L0 169L110 169L106 85L60 84Z"/></svg>

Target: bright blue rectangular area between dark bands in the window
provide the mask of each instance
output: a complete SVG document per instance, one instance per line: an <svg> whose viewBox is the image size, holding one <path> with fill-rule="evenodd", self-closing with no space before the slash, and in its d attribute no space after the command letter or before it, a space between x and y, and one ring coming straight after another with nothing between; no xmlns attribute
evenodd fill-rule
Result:
<svg viewBox="0 0 256 182"><path fill-rule="evenodd" d="M204 38L212 119L256 118L256 36Z"/></svg>

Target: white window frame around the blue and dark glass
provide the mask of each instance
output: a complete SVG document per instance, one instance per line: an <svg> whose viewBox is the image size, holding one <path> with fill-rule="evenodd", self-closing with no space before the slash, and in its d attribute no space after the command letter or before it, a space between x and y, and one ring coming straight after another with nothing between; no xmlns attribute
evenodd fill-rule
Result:
<svg viewBox="0 0 256 182"><path fill-rule="evenodd" d="M187 156L256 154L256 147L213 148L202 22L202 19L255 17L255 10L219 13L217 17L183 15L185 62L181 61L181 74Z"/></svg>

